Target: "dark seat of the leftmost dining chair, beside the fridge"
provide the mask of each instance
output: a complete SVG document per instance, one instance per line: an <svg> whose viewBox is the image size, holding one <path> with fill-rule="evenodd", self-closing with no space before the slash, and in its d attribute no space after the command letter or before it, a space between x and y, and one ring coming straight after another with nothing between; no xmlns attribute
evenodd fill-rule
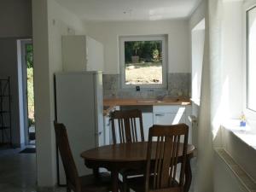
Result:
<svg viewBox="0 0 256 192"><path fill-rule="evenodd" d="M108 172L101 172L96 177L93 174L80 177L82 192L108 192L111 187L111 177Z"/></svg>

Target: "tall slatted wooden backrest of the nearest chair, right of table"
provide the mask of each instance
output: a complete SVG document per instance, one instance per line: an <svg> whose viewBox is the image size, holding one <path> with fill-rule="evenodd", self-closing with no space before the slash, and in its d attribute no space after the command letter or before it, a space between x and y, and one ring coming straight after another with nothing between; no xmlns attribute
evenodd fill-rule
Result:
<svg viewBox="0 0 256 192"><path fill-rule="evenodd" d="M189 127L185 124L153 125L149 129L146 192L183 191L188 134ZM181 137L184 138L183 143L180 142ZM181 163L180 172L177 172L177 163ZM153 177L153 183L150 184L153 189L149 189L149 177ZM178 183L176 177L179 178Z"/></svg>

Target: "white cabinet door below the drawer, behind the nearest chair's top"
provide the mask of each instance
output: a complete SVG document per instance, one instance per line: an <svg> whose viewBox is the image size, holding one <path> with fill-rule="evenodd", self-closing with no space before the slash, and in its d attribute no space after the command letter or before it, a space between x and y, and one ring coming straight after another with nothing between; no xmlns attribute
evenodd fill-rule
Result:
<svg viewBox="0 0 256 192"><path fill-rule="evenodd" d="M154 125L175 125L185 122L185 113L154 113Z"/></svg>

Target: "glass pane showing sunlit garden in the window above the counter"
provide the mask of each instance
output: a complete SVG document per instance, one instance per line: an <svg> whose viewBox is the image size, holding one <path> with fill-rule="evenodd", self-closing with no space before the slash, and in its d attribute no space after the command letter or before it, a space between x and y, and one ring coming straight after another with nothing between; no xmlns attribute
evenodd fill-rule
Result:
<svg viewBox="0 0 256 192"><path fill-rule="evenodd" d="M125 41L125 84L162 84L162 41Z"/></svg>

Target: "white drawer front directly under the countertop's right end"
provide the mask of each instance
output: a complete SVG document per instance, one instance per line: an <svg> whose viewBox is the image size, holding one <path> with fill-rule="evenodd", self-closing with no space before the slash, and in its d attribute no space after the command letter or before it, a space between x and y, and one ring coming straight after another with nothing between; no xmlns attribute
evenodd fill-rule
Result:
<svg viewBox="0 0 256 192"><path fill-rule="evenodd" d="M185 109L182 105L153 106L153 113L184 113Z"/></svg>

